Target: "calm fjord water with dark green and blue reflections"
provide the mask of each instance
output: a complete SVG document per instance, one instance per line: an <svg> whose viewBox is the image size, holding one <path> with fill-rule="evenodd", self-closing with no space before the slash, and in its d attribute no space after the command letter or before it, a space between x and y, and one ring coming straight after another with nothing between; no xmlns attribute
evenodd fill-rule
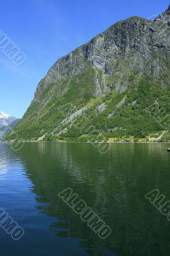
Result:
<svg viewBox="0 0 170 256"><path fill-rule="evenodd" d="M1 254L169 255L170 222L148 200L157 188L170 200L167 144L0 143L0 208L24 228L13 241L0 227ZM102 240L58 193L72 188L112 229Z"/></svg>

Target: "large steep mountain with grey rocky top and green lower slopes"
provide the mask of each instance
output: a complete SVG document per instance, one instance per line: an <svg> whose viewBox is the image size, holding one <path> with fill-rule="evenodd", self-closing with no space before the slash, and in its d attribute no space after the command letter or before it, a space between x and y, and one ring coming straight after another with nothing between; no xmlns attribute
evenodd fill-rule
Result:
<svg viewBox="0 0 170 256"><path fill-rule="evenodd" d="M15 132L39 141L170 140L169 39L170 6L155 20L117 22L50 68Z"/></svg>

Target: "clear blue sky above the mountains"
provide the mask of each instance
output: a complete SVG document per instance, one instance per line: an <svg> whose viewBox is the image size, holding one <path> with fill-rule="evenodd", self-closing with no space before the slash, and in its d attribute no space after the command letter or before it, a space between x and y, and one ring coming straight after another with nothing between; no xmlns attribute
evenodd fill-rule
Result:
<svg viewBox="0 0 170 256"><path fill-rule="evenodd" d="M118 20L148 18L168 5L166 0L1 0L0 29L27 60L17 67L0 49L0 110L22 117L38 82L58 58Z"/></svg>

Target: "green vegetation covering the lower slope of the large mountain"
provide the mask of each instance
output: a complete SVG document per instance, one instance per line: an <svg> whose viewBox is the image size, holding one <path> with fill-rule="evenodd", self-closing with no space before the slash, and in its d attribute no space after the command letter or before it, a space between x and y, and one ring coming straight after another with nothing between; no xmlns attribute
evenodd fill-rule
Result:
<svg viewBox="0 0 170 256"><path fill-rule="evenodd" d="M22 122L17 125L16 132L20 134L20 138L82 142L148 141L150 137L157 138L166 131L162 138L170 139L169 127L164 127L164 122L162 123L161 120L159 122L158 118L160 117L155 116L158 109L164 109L162 118L169 113L169 88L165 87L160 90L160 84L152 84L148 78L144 78L130 90L123 93L111 92L95 99L91 92L93 86L89 88L85 86L88 80L88 83L93 85L93 80L90 80L90 77L93 77L93 74L89 76L88 72L82 74L81 77L78 76L78 79L75 77L71 81L70 90L62 97L51 100L43 109L43 113L37 113L35 110L39 109L39 106L32 104L27 111L27 116L33 111L37 115L30 121L28 120L26 129L22 129ZM150 107L155 102L157 102L158 109ZM101 112L98 111L100 104L105 105ZM63 119L83 106L87 106L87 108L82 115L61 125ZM113 115L109 117L111 113ZM59 134L59 131L63 131L66 127L69 128ZM43 136L44 134L45 136ZM6 139L12 140L12 134Z"/></svg>

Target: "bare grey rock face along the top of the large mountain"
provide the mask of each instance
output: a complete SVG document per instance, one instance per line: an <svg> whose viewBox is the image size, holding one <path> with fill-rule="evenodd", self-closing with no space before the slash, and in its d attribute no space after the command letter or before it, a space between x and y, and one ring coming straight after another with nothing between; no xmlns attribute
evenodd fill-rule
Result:
<svg viewBox="0 0 170 256"><path fill-rule="evenodd" d="M166 60L170 54L169 17L170 7L154 21L131 17L114 24L104 33L95 36L88 44L58 60L39 84L35 100L42 93L42 88L48 84L81 74L86 66L84 61L88 61L111 78L121 74L121 84L120 81L111 84L112 88L121 91L128 86L125 71L132 72L135 68L135 72L143 76L150 70L157 79L164 72L160 59ZM157 58L154 54L157 54ZM122 70L120 61L125 62L126 70ZM149 63L146 66L147 62ZM107 92L107 88L104 92Z"/></svg>

